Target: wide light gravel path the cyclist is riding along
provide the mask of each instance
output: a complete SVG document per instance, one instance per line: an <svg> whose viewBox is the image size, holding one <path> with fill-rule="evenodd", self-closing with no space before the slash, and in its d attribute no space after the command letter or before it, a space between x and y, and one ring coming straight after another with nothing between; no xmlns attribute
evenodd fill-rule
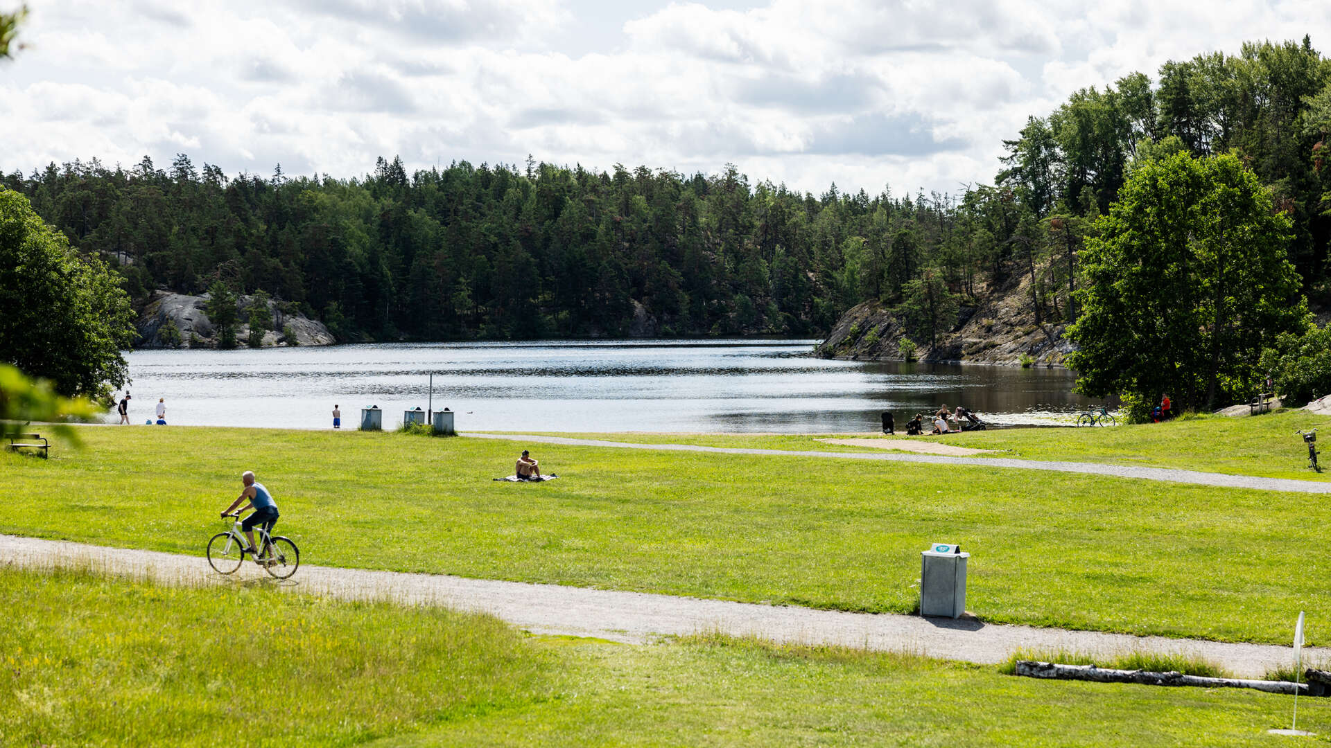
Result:
<svg viewBox="0 0 1331 748"><path fill-rule="evenodd" d="M773 642L906 651L973 663L1001 661L1018 647L1102 656L1130 651L1181 652L1222 664L1240 677L1259 677L1268 668L1287 665L1294 659L1288 647L1263 644L996 626L973 619L816 611L431 574L302 566L293 579L278 583L249 563L233 576L221 576L198 556L0 535L0 564L49 568L68 563L88 563L98 571L174 584L272 584L280 590L346 599L443 604L488 612L538 634L599 636L627 643L719 631ZM1314 648L1304 660L1328 656L1331 650Z"/></svg>

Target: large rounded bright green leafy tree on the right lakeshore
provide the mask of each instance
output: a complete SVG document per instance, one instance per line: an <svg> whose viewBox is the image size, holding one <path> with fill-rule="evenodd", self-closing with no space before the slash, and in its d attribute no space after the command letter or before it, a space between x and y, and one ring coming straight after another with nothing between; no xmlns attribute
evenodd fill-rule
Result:
<svg viewBox="0 0 1331 748"><path fill-rule="evenodd" d="M1169 394L1178 410L1247 397L1263 343L1307 313L1288 229L1234 156L1177 153L1135 169L1082 253L1083 313L1067 331L1078 390Z"/></svg>

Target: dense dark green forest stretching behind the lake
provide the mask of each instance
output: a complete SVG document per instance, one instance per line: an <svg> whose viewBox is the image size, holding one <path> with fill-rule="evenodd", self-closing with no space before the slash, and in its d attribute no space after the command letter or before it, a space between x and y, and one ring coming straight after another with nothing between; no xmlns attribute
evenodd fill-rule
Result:
<svg viewBox="0 0 1331 748"><path fill-rule="evenodd" d="M154 287L266 291L335 334L375 339L821 334L865 299L917 339L958 305L1030 281L1037 323L1078 314L1079 254L1131 170L1234 153L1290 218L1302 291L1327 299L1323 138L1331 64L1310 40L1246 44L1125 76L1033 117L992 185L958 196L820 196L736 168L679 174L455 162L361 178L225 176L93 160L0 176L84 252Z"/></svg>

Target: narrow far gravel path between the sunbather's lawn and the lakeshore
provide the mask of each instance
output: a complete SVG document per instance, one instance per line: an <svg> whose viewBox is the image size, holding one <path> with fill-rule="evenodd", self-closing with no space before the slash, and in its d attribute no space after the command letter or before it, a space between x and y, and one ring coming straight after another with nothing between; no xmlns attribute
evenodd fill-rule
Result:
<svg viewBox="0 0 1331 748"><path fill-rule="evenodd" d="M603 439L575 439L571 437L536 437L530 434L475 434L466 437L476 439L500 439L506 442L538 442L546 445L572 445L584 447L620 447L630 450L667 450L685 453L744 454L773 457L825 457L835 459L880 459L888 462L922 462L928 465L976 465L980 467L1014 467L1021 470L1047 470L1050 472L1085 472L1089 475L1109 475L1114 478L1141 478L1143 480L1166 480L1171 483L1195 483L1221 488L1256 488L1260 491L1295 491L1302 494L1331 494L1331 483L1294 480L1290 478L1258 478L1254 475L1229 475L1225 472L1199 472L1174 467L1135 467L1126 465L1101 465L1097 462L1065 462L1041 459L1013 459L1004 457L944 457L900 453L821 453L812 450L760 450L751 447L708 447L703 445L648 445L636 442L608 442Z"/></svg>

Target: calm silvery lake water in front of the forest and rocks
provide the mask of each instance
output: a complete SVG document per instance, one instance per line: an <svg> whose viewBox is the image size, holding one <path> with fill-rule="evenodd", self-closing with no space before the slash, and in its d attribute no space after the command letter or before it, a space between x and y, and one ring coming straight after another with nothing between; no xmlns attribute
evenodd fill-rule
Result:
<svg viewBox="0 0 1331 748"><path fill-rule="evenodd" d="M989 421L1033 423L1090 401L1062 369L825 361L817 341L377 343L126 355L132 422L157 398L186 426L326 429L333 405L354 429L429 406L466 430L873 431L892 410L958 403Z"/></svg>

